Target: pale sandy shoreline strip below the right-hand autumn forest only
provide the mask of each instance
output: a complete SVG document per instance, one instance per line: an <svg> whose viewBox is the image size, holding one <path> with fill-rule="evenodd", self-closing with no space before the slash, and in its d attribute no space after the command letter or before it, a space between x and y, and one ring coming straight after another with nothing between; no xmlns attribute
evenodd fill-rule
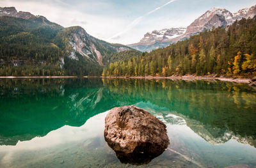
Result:
<svg viewBox="0 0 256 168"><path fill-rule="evenodd" d="M180 79L180 80L221 80L226 82L236 82L236 83L245 83L250 84L252 83L252 79L248 78L231 78L231 77L207 77L207 76L193 76L193 75L184 75L184 76L170 76L170 77L152 77L152 76L145 76L145 77L102 77L102 78L118 78L118 79Z"/></svg>

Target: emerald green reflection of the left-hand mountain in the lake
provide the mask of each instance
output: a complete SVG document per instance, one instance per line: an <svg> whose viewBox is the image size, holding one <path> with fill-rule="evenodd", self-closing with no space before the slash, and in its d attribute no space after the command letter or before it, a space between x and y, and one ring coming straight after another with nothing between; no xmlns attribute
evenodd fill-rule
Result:
<svg viewBox="0 0 256 168"><path fill-rule="evenodd" d="M6 79L0 85L0 144L42 137L64 125L81 126L106 111L97 106L100 79Z"/></svg>

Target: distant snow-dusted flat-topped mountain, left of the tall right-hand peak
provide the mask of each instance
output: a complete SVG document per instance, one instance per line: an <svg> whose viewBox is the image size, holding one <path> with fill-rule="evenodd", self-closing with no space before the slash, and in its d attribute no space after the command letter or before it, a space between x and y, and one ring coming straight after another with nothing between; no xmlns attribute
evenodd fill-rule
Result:
<svg viewBox="0 0 256 168"><path fill-rule="evenodd" d="M140 42L128 46L143 52L157 49L159 47L166 47L172 43L172 38L184 34L185 31L186 28L184 27L161 29L159 31L154 30L151 33L148 32L145 34Z"/></svg>

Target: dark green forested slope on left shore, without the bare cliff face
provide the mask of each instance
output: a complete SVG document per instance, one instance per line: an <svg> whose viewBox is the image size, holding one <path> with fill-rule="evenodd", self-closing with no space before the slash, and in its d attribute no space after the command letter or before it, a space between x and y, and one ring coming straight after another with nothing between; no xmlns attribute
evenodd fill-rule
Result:
<svg viewBox="0 0 256 168"><path fill-rule="evenodd" d="M68 57L76 29L40 18L0 17L0 76L100 75L99 64L77 53L79 60Z"/></svg>

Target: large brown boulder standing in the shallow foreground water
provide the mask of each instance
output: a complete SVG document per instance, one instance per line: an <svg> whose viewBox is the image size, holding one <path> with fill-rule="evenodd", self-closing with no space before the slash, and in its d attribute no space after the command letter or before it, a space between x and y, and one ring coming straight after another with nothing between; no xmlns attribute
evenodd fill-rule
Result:
<svg viewBox="0 0 256 168"><path fill-rule="evenodd" d="M166 125L134 105L111 109L104 137L123 163L147 164L168 147Z"/></svg>

